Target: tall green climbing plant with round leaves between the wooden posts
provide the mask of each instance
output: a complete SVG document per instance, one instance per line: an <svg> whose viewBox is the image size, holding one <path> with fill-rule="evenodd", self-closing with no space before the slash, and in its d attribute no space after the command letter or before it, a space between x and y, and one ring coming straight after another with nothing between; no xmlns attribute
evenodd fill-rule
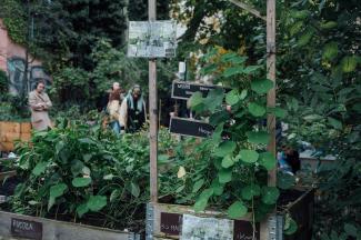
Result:
<svg viewBox="0 0 361 240"><path fill-rule="evenodd" d="M207 97L195 92L190 99L195 114L215 129L202 142L211 152L205 161L210 162L213 177L199 179L193 190L198 192L195 211L217 202L227 207L230 218L249 213L254 222L275 208L280 196L280 190L267 181L268 171L275 168L275 158L267 151L271 136L265 118L268 113L283 118L285 111L267 107L267 93L273 82L259 78L263 67L247 66L247 60L234 52L219 57L217 49L203 57L201 72L211 74L224 88L217 88Z"/></svg>

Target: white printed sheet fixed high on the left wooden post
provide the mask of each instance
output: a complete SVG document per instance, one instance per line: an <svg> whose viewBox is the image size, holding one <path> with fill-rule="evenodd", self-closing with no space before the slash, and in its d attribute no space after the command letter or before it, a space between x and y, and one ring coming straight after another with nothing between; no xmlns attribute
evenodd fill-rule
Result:
<svg viewBox="0 0 361 240"><path fill-rule="evenodd" d="M176 48L176 21L129 22L128 57L172 58Z"/></svg>

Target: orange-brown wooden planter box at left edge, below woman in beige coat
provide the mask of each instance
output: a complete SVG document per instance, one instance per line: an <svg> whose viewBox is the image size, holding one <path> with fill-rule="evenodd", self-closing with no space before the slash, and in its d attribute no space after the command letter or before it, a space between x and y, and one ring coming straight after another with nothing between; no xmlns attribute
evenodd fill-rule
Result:
<svg viewBox="0 0 361 240"><path fill-rule="evenodd" d="M0 151L12 151L14 140L29 141L30 138L30 122L0 122Z"/></svg>

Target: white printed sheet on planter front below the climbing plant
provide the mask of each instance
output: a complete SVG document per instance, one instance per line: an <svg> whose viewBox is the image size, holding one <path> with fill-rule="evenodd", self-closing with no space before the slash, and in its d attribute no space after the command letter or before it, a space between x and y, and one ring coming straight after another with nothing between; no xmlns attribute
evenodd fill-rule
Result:
<svg viewBox="0 0 361 240"><path fill-rule="evenodd" d="M181 240L233 240L233 224L229 219L183 214Z"/></svg>

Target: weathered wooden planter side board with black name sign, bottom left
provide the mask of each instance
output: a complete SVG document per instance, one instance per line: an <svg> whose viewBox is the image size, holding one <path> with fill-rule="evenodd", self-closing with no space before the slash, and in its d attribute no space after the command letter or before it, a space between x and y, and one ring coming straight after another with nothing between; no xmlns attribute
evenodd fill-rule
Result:
<svg viewBox="0 0 361 240"><path fill-rule="evenodd" d="M132 232L62 222L0 211L2 239L34 240L140 240Z"/></svg>

